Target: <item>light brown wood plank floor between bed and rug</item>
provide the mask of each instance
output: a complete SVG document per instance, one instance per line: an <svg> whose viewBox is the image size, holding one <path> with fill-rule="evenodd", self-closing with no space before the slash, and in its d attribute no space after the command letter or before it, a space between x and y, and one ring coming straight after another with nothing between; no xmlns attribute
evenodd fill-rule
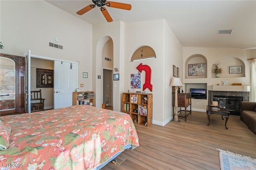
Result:
<svg viewBox="0 0 256 170"><path fill-rule="evenodd" d="M225 118L224 118L225 119ZM135 124L140 146L125 150L102 170L220 170L219 151L228 150L256 158L256 135L230 115L227 127L221 115L192 111L187 121L169 122L164 127Z"/></svg>

